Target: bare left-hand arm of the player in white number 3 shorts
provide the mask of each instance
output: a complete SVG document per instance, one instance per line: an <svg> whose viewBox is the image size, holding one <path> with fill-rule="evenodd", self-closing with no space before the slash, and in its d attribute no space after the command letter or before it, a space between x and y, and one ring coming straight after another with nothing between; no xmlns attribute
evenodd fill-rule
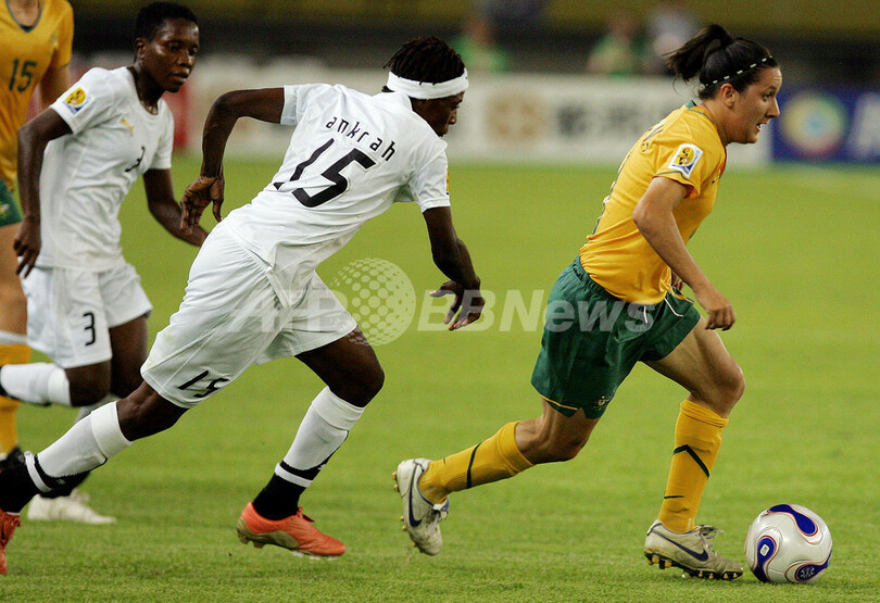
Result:
<svg viewBox="0 0 880 603"><path fill-rule="evenodd" d="M18 197L24 216L13 247L18 255L16 272L23 277L30 274L40 254L40 173L42 153L49 141L71 133L71 126L47 109L18 130Z"/></svg>

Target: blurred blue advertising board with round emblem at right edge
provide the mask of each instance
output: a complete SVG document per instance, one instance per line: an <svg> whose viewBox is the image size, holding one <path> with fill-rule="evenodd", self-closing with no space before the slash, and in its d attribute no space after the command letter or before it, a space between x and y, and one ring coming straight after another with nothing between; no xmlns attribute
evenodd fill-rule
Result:
<svg viewBox="0 0 880 603"><path fill-rule="evenodd" d="M783 87L779 105L774 159L880 162L880 91Z"/></svg>

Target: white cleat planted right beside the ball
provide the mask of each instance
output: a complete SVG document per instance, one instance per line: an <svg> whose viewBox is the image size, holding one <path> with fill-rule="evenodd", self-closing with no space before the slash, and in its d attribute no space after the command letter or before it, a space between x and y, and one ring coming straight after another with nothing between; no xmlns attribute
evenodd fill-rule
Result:
<svg viewBox="0 0 880 603"><path fill-rule="evenodd" d="M666 569L675 565L694 578L707 580L732 580L742 576L742 566L716 553L709 539L720 530L712 526L677 532L659 520L654 522L644 540L644 556L648 563Z"/></svg>

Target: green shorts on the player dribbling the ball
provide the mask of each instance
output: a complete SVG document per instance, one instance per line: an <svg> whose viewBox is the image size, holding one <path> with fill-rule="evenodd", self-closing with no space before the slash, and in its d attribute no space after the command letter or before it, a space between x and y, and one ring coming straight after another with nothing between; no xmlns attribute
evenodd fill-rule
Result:
<svg viewBox="0 0 880 603"><path fill-rule="evenodd" d="M666 356L699 321L678 291L655 305L615 298L576 259L550 292L531 385L562 414L599 418L637 362Z"/></svg>

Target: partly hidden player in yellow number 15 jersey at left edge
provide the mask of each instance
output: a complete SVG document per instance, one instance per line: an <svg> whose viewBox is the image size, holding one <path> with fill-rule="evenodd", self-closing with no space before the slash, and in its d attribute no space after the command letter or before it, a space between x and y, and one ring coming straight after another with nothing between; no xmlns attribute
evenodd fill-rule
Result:
<svg viewBox="0 0 880 603"><path fill-rule="evenodd" d="M27 305L13 240L22 221L12 191L18 128L40 85L40 109L70 86L73 9L66 0L5 0L0 4L0 366L30 361ZM18 402L0 398L0 458L21 454Z"/></svg>

